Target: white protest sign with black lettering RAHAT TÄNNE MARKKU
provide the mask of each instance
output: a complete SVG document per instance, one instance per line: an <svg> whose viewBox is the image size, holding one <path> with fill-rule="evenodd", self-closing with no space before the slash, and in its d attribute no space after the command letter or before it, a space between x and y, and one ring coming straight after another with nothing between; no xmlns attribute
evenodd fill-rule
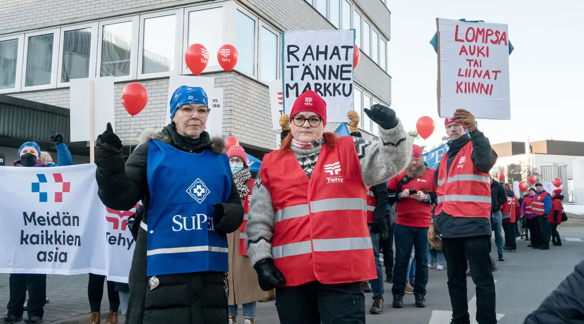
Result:
<svg viewBox="0 0 584 324"><path fill-rule="evenodd" d="M349 122L354 30L293 30L281 38L284 113L300 94L313 90L326 101L328 122Z"/></svg>

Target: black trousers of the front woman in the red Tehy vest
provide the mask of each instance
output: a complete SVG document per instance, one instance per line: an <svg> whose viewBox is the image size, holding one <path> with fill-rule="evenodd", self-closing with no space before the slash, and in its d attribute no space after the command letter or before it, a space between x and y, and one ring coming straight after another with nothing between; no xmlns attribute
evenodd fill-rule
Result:
<svg viewBox="0 0 584 324"><path fill-rule="evenodd" d="M361 281L276 288L281 324L365 324L365 296Z"/></svg>

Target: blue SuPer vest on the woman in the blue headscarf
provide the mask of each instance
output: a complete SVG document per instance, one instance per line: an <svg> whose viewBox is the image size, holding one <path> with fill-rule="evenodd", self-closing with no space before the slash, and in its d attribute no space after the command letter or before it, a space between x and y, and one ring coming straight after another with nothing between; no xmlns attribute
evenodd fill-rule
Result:
<svg viewBox="0 0 584 324"><path fill-rule="evenodd" d="M231 192L227 154L187 153L150 140L147 175L147 276L227 272L227 237L213 228L213 205Z"/></svg>

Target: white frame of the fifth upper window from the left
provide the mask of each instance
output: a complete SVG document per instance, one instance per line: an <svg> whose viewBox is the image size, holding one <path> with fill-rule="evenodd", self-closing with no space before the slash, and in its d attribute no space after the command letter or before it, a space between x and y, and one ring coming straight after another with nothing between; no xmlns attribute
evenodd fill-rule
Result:
<svg viewBox="0 0 584 324"><path fill-rule="evenodd" d="M175 57L173 70L168 72L142 73L142 61L144 60L144 55L142 55L142 52L144 52L144 20L172 15L175 16ZM184 15L185 10L183 8L140 15L140 27L138 33L138 79L158 79L164 78L166 76L180 74L183 61L185 61L185 53L182 51L182 46L180 46L180 44L182 44L183 38L183 27L185 26Z"/></svg>

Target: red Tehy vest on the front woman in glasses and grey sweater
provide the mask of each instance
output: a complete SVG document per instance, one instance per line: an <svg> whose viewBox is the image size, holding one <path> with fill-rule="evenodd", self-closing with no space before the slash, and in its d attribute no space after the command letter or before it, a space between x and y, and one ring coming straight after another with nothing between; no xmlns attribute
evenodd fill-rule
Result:
<svg viewBox="0 0 584 324"><path fill-rule="evenodd" d="M367 188L353 139L322 146L310 180L293 153L266 154L262 184L274 206L272 258L286 285L377 278L367 227Z"/></svg>

